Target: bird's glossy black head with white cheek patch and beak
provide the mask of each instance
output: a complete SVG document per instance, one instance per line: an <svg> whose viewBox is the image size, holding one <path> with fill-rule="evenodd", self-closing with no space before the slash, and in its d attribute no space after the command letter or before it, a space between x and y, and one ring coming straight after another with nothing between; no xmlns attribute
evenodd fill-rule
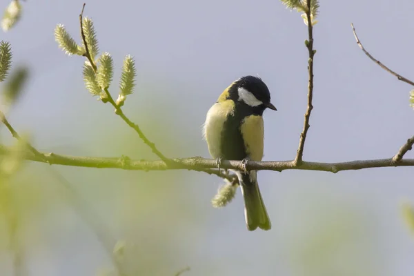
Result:
<svg viewBox="0 0 414 276"><path fill-rule="evenodd" d="M259 77L246 76L237 79L233 83L232 89L234 100L242 101L246 105L265 110L270 108L272 110L277 110L272 103L270 103L270 92L266 83L262 81Z"/></svg>

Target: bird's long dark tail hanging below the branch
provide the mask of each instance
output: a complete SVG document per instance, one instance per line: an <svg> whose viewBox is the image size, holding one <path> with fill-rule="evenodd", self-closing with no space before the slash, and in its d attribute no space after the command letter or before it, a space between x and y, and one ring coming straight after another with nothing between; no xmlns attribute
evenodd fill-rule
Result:
<svg viewBox="0 0 414 276"><path fill-rule="evenodd" d="M257 184L256 172L254 170L250 173L239 172L237 175L244 197L244 217L247 229L253 231L259 227L269 230L272 226Z"/></svg>

